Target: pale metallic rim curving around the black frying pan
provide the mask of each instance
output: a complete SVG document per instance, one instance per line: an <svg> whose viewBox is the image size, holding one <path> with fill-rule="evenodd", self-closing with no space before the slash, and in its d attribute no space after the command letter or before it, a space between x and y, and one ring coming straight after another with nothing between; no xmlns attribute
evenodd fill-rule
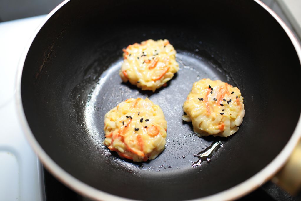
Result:
<svg viewBox="0 0 301 201"><path fill-rule="evenodd" d="M84 182L76 179L71 174L69 174L67 171L65 171L63 168L61 168L59 165L57 165L51 158L46 154L46 152L42 149L42 147L39 145L38 141L34 137L32 131L30 130L30 127L28 125L28 122L26 120L26 116L23 110L23 104L22 104L22 97L21 97L21 78L22 78L22 71L24 62L27 56L27 53L29 51L29 48L35 39L38 32L42 29L44 24L49 20L51 16L53 16L61 7L63 7L67 2L70 0L65 0L60 5L58 5L54 10L52 10L42 21L42 23L39 25L39 27L36 29L35 33L31 37L31 39L28 41L26 47L23 50L23 53L20 57L18 69L17 69L17 81L16 81L16 95L15 95L15 104L17 108L17 116L18 120L20 122L20 125L22 127L22 130L25 134L25 137L27 141L29 142L30 146L33 148L33 150L36 152L36 154L39 157L39 160L42 162L44 167L51 172L59 181L64 183L66 186L71 188L72 190L76 191L77 193L89 197L91 199L95 200L119 200L119 201L126 201L126 200L133 200L128 199L120 196L116 196L110 193L106 193L104 191L98 190L94 187L89 186L88 184L85 184ZM275 20L278 21L278 23L281 25L281 27L284 29L284 31L287 33L287 36L290 38L296 53L298 55L300 64L301 64L301 47L292 33L292 31L289 29L289 27L284 23L284 21L274 12L272 9L270 9L268 6L266 6L264 3L262 3L260 0L253 0L256 3L258 3L262 8L264 8L266 11L268 11L269 14L271 14ZM233 200L238 199L251 191L258 188L260 185L264 184L266 181L270 180L279 170L280 168L285 164L287 159L289 158L290 154L293 152L293 149L297 145L298 141L301 138L301 115L299 116L299 120L296 124L295 130L293 131L292 136L290 137L290 140L287 142L287 144L284 146L284 148L281 150L281 152L270 162L267 166L265 166L261 171L257 172L255 175L250 177L249 179L245 180L244 182L237 184L234 187L231 187L227 190L224 190L222 192L209 195L202 198L197 198L193 200L202 201L202 200Z"/></svg>

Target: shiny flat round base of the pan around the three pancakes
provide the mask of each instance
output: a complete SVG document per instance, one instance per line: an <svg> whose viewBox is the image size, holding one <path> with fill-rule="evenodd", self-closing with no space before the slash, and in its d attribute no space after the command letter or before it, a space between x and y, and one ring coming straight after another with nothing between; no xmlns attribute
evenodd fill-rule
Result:
<svg viewBox="0 0 301 201"><path fill-rule="evenodd" d="M140 174L143 174L145 170L152 170L163 171L160 172L162 175L166 174L169 171L167 169L170 168L173 168L174 174L182 174L183 170L198 171L191 168L191 161L196 161L193 154L205 149L212 141L226 142L228 140L218 137L199 138L195 136L191 124L182 121L184 114L182 105L195 81L203 78L225 81L228 79L230 81L230 78L222 72L222 69L210 63L206 58L181 50L177 52L179 72L175 74L172 81L168 82L168 86L155 93L142 91L130 83L122 83L119 70L123 58L120 58L101 75L95 88L89 94L84 108L84 125L95 146L98 146L104 157L110 158L115 165L123 168L140 168ZM168 122L168 137L165 151L156 160L133 163L120 159L115 152L109 151L102 141L104 140L104 115L120 102L138 97L143 99L147 97L155 104L160 105ZM206 164L204 163L203 166Z"/></svg>

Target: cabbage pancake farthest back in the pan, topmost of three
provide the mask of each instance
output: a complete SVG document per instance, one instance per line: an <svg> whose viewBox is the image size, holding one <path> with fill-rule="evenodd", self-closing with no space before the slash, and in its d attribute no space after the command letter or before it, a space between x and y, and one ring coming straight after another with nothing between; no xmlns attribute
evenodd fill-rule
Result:
<svg viewBox="0 0 301 201"><path fill-rule="evenodd" d="M165 86L179 70L175 49L168 40L147 40L123 49L123 65L119 75L142 90L153 92Z"/></svg>

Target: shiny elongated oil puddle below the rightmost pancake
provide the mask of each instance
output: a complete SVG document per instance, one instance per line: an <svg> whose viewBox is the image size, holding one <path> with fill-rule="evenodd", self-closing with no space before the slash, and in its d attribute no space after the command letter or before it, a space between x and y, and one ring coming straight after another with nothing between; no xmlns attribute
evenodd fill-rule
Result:
<svg viewBox="0 0 301 201"><path fill-rule="evenodd" d="M208 162L210 161L210 158L214 156L216 151L219 149L219 147L222 147L223 144L221 141L212 143L208 148L206 148L204 151L201 151L198 154L194 154L195 157L198 158L197 162L194 162L191 167L201 166L201 163L205 160Z"/></svg>

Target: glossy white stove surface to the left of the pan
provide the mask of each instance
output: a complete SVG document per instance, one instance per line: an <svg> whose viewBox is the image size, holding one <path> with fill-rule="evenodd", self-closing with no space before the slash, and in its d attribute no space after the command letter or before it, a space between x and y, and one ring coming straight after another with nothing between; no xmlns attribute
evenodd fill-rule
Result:
<svg viewBox="0 0 301 201"><path fill-rule="evenodd" d="M19 58L44 17L0 23L0 200L45 199L42 165L25 139L14 97Z"/></svg>

